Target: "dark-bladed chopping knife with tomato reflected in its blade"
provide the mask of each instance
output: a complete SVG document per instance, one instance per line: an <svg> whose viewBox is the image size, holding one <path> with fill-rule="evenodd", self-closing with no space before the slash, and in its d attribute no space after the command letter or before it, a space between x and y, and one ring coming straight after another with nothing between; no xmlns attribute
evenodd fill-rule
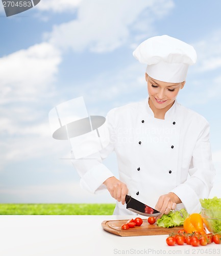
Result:
<svg viewBox="0 0 221 256"><path fill-rule="evenodd" d="M127 209L140 214L143 216L158 216L161 215L161 212L155 210L154 208L141 203L140 201L132 198L131 196L126 195L125 202L127 204Z"/></svg>

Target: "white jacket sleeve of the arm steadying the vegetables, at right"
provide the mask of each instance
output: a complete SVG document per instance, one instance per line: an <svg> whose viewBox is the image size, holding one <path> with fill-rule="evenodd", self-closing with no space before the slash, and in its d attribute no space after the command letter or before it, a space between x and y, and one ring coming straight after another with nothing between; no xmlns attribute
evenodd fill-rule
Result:
<svg viewBox="0 0 221 256"><path fill-rule="evenodd" d="M200 199L209 197L215 177L209 142L209 124L204 121L201 127L192 154L189 178L171 190L181 199L189 214L200 212Z"/></svg>

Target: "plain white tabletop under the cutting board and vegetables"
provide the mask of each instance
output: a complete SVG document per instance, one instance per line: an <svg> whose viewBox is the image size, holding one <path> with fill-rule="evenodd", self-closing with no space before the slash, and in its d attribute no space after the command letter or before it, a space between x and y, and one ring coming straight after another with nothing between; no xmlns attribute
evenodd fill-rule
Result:
<svg viewBox="0 0 221 256"><path fill-rule="evenodd" d="M167 246L166 235L119 237L104 220L131 216L0 216L1 256L221 255L221 245Z"/></svg>

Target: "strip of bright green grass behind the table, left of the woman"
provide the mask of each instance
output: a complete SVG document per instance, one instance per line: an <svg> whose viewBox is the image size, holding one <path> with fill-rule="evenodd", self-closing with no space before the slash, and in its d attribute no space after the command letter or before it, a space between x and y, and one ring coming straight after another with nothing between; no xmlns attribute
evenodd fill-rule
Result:
<svg viewBox="0 0 221 256"><path fill-rule="evenodd" d="M0 204L0 215L112 215L115 204Z"/></svg>

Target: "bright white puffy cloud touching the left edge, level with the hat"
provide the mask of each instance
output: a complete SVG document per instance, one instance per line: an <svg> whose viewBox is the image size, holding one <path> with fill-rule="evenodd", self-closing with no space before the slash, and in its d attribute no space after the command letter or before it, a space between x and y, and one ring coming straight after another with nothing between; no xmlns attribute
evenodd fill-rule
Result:
<svg viewBox="0 0 221 256"><path fill-rule="evenodd" d="M0 58L0 104L31 101L45 93L60 61L60 52L47 42Z"/></svg>

